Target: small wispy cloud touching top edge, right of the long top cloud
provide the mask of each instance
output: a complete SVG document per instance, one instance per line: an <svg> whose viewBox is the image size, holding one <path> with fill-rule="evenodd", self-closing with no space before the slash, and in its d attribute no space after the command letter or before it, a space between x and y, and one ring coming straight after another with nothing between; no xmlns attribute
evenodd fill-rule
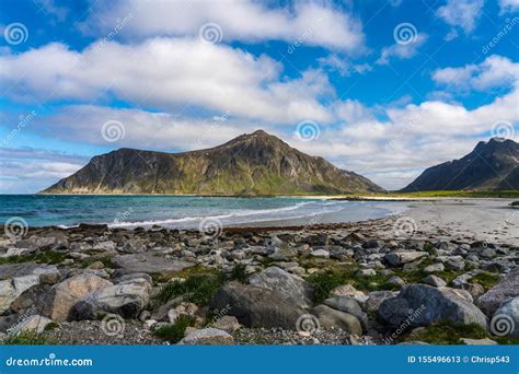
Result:
<svg viewBox="0 0 519 374"><path fill-rule="evenodd" d="M436 15L442 19L448 25L463 30L470 34L476 27L483 12L484 0L447 0L443 7L438 8ZM450 32L447 39L457 36Z"/></svg>

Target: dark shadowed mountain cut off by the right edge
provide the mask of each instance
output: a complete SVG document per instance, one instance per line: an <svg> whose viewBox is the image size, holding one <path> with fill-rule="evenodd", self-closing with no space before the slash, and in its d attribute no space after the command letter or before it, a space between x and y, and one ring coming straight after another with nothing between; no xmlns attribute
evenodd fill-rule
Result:
<svg viewBox="0 0 519 374"><path fill-rule="evenodd" d="M481 141L463 159L427 168L402 191L519 189L519 144L510 139Z"/></svg>

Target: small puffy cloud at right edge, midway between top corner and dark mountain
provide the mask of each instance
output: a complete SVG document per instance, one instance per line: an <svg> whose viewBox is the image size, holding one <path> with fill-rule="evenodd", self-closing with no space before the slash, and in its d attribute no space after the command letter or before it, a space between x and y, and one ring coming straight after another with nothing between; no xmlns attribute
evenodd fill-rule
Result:
<svg viewBox="0 0 519 374"><path fill-rule="evenodd" d="M510 87L519 81L519 63L503 56L489 56L478 65L438 69L436 83L457 90L485 91L495 86Z"/></svg>

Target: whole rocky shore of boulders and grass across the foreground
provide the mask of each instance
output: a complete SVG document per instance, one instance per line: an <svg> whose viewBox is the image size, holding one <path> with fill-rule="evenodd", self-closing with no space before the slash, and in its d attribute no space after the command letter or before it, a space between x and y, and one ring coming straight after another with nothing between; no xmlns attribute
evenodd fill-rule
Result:
<svg viewBox="0 0 519 374"><path fill-rule="evenodd" d="M0 239L0 339L519 343L518 247L424 237L399 220L11 233Z"/></svg>

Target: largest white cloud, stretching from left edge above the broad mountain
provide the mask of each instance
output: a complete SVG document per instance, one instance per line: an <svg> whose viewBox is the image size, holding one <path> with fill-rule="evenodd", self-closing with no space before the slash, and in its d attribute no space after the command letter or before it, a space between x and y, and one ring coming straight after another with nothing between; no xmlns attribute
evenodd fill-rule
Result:
<svg viewBox="0 0 519 374"><path fill-rule="evenodd" d="M38 101L113 94L170 112L189 106L273 122L332 119L316 100L334 94L325 74L310 70L289 80L280 72L281 65L267 56L198 39L97 43L81 52L49 44L0 56L0 84L18 100L26 100L27 91Z"/></svg>

